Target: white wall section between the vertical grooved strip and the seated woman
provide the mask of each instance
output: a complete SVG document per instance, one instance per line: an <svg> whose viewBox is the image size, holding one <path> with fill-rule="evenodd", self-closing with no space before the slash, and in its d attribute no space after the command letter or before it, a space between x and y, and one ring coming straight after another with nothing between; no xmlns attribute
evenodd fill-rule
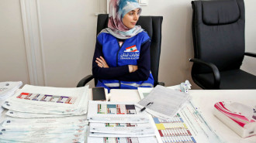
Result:
<svg viewBox="0 0 256 143"><path fill-rule="evenodd" d="M92 73L98 2L41 0L47 86L75 87Z"/></svg>

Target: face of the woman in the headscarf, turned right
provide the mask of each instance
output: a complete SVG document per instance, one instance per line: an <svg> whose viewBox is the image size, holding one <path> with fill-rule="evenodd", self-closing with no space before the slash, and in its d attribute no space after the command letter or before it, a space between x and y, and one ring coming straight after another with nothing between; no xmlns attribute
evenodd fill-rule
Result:
<svg viewBox="0 0 256 143"><path fill-rule="evenodd" d="M140 17L140 9L134 9L123 16L123 25L133 29Z"/></svg>

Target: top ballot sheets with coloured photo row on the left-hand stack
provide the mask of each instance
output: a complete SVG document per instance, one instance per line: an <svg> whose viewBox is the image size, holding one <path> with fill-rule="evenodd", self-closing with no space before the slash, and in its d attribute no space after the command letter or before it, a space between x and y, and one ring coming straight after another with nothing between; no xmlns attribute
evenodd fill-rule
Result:
<svg viewBox="0 0 256 143"><path fill-rule="evenodd" d="M2 107L12 111L36 114L87 113L88 86L77 88L39 87L25 85Z"/></svg>

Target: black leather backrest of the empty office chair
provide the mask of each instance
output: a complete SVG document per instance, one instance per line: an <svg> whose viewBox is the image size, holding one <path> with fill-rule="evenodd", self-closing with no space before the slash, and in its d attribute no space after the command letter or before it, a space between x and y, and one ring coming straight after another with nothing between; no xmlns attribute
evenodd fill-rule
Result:
<svg viewBox="0 0 256 143"><path fill-rule="evenodd" d="M220 71L239 69L244 60L244 0L192 1L194 56ZM195 73L208 73L194 64Z"/></svg>

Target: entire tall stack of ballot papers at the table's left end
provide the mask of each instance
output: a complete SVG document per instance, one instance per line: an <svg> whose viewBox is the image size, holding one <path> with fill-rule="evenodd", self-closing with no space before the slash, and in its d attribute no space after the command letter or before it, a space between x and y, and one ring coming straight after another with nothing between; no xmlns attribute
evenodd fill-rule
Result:
<svg viewBox="0 0 256 143"><path fill-rule="evenodd" d="M85 142L88 86L25 85L2 105L1 142Z"/></svg>

